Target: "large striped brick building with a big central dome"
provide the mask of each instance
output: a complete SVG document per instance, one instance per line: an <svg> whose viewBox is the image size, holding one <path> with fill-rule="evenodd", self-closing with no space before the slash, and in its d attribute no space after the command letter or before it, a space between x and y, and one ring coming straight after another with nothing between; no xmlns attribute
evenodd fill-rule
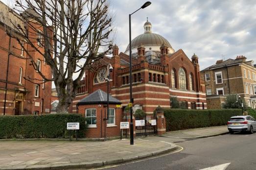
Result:
<svg viewBox="0 0 256 170"><path fill-rule="evenodd" d="M132 40L132 94L133 110L143 109L153 114L157 106L170 107L170 97L175 96L186 108L206 109L204 82L200 80L198 57L191 60L182 49L175 52L171 44L151 30L149 21L144 24L144 33ZM88 70L80 82L78 94L70 106L70 112L85 115L84 108L76 105L96 90L107 91L107 65L110 73L109 93L121 102L121 109L130 102L129 45L125 52L113 47L113 56L105 56L93 70Z"/></svg>

